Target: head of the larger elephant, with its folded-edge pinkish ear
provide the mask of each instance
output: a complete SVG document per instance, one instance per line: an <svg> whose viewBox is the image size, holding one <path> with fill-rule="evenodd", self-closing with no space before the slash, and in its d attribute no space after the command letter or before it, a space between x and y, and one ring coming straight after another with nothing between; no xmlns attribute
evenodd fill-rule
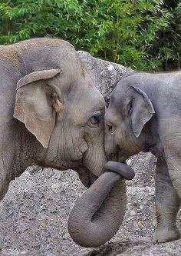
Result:
<svg viewBox="0 0 181 256"><path fill-rule="evenodd" d="M34 163L73 168L88 186L107 161L103 96L71 44L39 38L15 46L25 75L17 83L14 117L33 135Z"/></svg>

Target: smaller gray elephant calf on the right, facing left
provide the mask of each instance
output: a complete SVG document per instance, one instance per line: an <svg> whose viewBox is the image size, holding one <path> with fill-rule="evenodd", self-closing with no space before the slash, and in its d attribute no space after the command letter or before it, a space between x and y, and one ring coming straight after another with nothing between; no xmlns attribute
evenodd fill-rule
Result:
<svg viewBox="0 0 181 256"><path fill-rule="evenodd" d="M124 161L140 151L156 155L153 243L180 237L176 228L181 198L180 101L181 72L134 73L117 82L105 115L108 158Z"/></svg>

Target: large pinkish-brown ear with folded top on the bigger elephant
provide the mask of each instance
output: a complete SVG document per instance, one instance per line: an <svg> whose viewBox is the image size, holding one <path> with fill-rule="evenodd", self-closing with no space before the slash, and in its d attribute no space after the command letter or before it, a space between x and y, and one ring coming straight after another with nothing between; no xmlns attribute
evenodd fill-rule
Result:
<svg viewBox="0 0 181 256"><path fill-rule="evenodd" d="M59 69L35 71L21 78L16 88L13 116L25 124L44 148L48 148L56 111L61 109L58 93L48 85L48 79L58 73Z"/></svg>

